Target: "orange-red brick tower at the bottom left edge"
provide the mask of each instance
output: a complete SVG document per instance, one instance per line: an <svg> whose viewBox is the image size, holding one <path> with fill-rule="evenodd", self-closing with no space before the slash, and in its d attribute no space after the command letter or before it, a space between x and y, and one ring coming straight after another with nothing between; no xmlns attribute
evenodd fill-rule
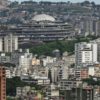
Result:
<svg viewBox="0 0 100 100"><path fill-rule="evenodd" d="M0 100L6 100L6 73L4 67L0 67Z"/></svg>

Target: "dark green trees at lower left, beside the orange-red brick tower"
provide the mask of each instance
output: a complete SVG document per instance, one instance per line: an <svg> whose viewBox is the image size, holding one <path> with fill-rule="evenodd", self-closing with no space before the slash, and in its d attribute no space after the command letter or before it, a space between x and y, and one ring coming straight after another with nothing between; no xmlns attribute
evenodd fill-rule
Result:
<svg viewBox="0 0 100 100"><path fill-rule="evenodd" d="M6 93L8 96L15 96L16 95L16 87L30 86L32 88L35 88L35 90L42 90L42 88L43 88L41 86L38 86L36 83L23 82L19 77L7 79L6 81L7 81L6 82L6 86L7 86Z"/></svg>

